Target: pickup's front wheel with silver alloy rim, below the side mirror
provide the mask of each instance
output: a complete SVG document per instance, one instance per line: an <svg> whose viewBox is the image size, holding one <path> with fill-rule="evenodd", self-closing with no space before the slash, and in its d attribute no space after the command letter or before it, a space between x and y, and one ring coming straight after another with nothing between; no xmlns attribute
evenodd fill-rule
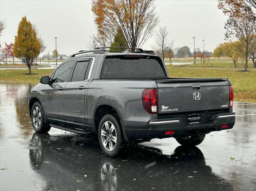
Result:
<svg viewBox="0 0 256 191"><path fill-rule="evenodd" d="M31 110L31 122L35 132L47 133L51 126L44 121L44 110L39 102L35 102Z"/></svg>

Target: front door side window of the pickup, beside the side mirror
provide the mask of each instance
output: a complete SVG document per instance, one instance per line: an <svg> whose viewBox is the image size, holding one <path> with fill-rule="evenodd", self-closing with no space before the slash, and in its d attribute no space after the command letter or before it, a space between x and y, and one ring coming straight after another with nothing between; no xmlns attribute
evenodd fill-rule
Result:
<svg viewBox="0 0 256 191"><path fill-rule="evenodd" d="M54 73L53 83L68 82L75 60L62 64Z"/></svg>

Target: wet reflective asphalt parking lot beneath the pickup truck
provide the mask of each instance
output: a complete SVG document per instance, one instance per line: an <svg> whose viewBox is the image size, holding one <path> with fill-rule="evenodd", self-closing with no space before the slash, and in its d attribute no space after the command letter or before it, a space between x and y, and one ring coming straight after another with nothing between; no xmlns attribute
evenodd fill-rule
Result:
<svg viewBox="0 0 256 191"><path fill-rule="evenodd" d="M233 129L194 148L153 139L107 158L95 134L52 128L28 116L33 85L0 83L0 190L256 190L256 103L234 102Z"/></svg>

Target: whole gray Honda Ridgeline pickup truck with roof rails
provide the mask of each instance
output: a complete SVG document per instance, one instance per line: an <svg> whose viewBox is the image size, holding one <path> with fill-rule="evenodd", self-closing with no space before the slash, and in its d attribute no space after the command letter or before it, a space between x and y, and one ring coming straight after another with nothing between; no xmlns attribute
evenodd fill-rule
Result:
<svg viewBox="0 0 256 191"><path fill-rule="evenodd" d="M206 134L235 123L228 79L170 78L153 51L132 48L71 55L40 78L28 103L36 132L51 127L96 132L109 157L124 143L152 138L173 137L183 146L195 146Z"/></svg>

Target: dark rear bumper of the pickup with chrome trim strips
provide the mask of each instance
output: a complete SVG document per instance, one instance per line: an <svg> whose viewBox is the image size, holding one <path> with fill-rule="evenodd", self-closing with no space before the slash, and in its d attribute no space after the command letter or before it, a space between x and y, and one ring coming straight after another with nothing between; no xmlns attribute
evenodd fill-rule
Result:
<svg viewBox="0 0 256 191"><path fill-rule="evenodd" d="M194 134L207 134L212 131L220 131L233 128L235 124L235 113L218 114L212 124L183 124L180 118L169 118L162 120L149 120L146 126L126 126L124 130L129 140L150 140L152 138L168 138L178 136L190 136ZM221 126L228 125L226 128ZM175 134L165 135L167 131L175 131Z"/></svg>

